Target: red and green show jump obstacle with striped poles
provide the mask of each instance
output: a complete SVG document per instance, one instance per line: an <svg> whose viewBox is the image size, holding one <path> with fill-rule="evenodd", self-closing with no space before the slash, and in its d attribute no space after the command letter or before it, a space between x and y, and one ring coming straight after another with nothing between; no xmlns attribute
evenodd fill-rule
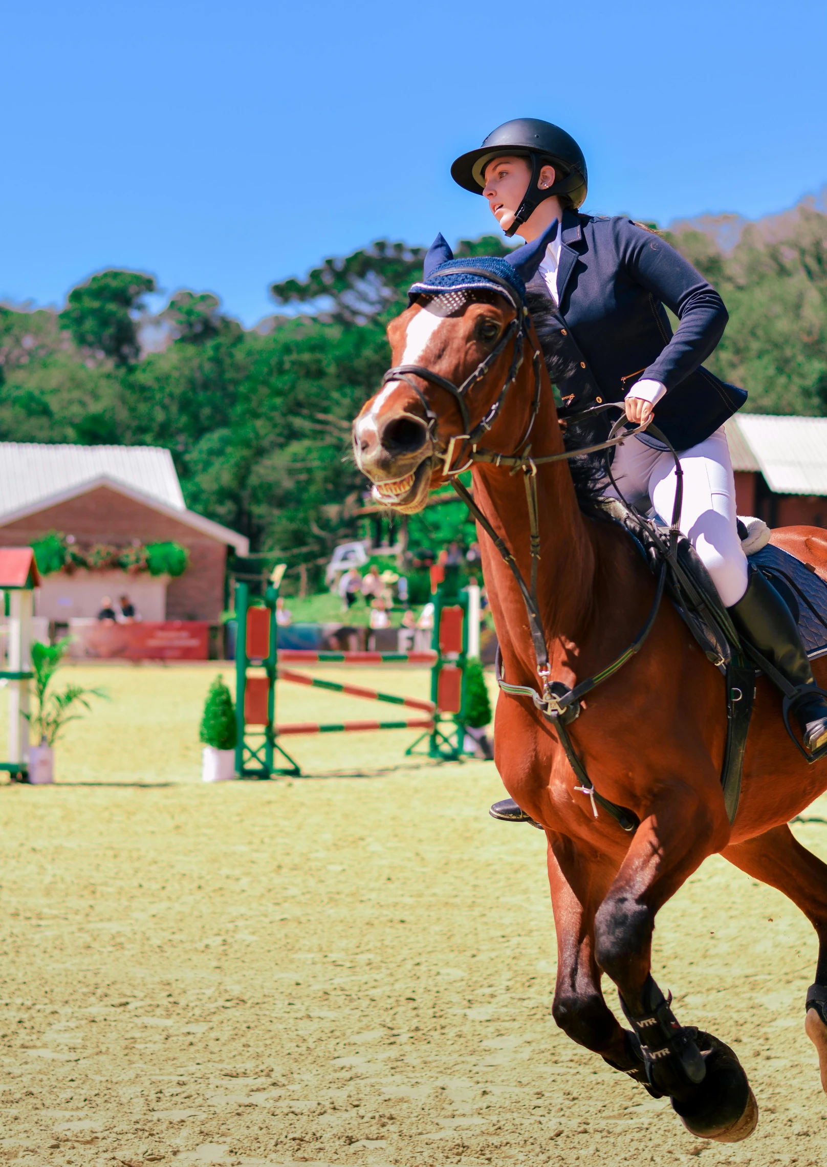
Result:
<svg viewBox="0 0 827 1167"><path fill-rule="evenodd" d="M283 568L273 573L265 592L264 605L251 605L250 586L236 584L236 773L245 778L299 776L299 763L279 743L294 734L355 733L372 729L421 729L406 755L454 761L465 753L465 664L469 656L469 605L475 628L478 628L478 589L460 591L456 569L446 571L434 602L434 637L436 649L420 652L336 652L310 649L279 649L279 626L275 602ZM471 649L478 654L478 641L471 634ZM360 685L322 680L307 673L285 669L285 664L411 664L430 665L430 700L380 693ZM257 670L251 675L250 670ZM328 692L344 693L371 701L401 705L426 713L422 718L395 721L300 721L279 725L276 717L276 682L308 685ZM427 745L423 745L427 740Z"/></svg>

